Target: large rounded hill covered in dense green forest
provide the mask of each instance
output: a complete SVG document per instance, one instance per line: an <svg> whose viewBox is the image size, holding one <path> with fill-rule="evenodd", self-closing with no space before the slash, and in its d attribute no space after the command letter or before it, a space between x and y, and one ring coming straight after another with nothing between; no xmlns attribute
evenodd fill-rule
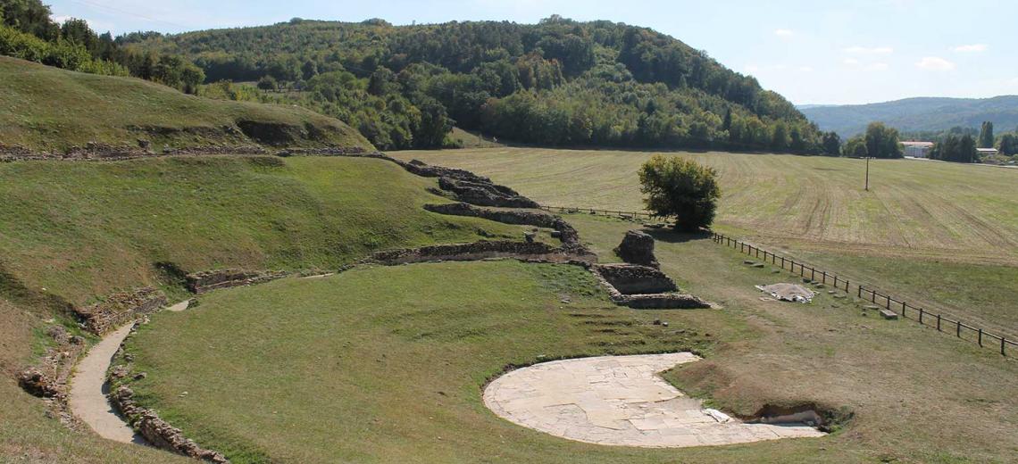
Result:
<svg viewBox="0 0 1018 464"><path fill-rule="evenodd" d="M180 54L208 82L254 81L383 150L449 142L453 124L549 146L818 153L780 95L671 37L553 16L539 24L287 23L118 39ZM237 93L224 95L237 98Z"/></svg>

